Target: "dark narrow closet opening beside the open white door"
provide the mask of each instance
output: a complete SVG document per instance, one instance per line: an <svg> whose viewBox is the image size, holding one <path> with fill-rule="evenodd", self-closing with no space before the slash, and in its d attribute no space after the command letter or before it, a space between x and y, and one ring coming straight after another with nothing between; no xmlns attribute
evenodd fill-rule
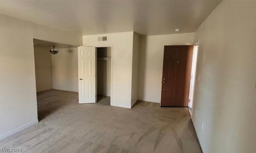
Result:
<svg viewBox="0 0 256 153"><path fill-rule="evenodd" d="M110 105L111 47L97 47L97 102Z"/></svg>

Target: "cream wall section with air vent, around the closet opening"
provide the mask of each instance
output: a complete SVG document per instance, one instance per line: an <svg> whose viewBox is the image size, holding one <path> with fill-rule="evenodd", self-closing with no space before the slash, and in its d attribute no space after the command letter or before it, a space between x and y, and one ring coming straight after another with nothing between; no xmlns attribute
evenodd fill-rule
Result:
<svg viewBox="0 0 256 153"><path fill-rule="evenodd" d="M98 41L102 36L106 36L107 41ZM112 106L131 108L132 43L133 31L83 36L84 46L113 47Z"/></svg>

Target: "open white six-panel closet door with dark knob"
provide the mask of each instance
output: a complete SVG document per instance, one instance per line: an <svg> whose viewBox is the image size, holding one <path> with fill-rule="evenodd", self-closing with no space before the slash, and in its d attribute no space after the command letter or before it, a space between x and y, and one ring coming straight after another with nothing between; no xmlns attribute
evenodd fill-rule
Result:
<svg viewBox="0 0 256 153"><path fill-rule="evenodd" d="M96 47L78 47L79 104L96 103Z"/></svg>

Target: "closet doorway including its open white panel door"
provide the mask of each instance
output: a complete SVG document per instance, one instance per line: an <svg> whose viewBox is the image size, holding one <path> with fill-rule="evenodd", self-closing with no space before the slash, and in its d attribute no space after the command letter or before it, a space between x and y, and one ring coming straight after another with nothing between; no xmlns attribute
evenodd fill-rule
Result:
<svg viewBox="0 0 256 153"><path fill-rule="evenodd" d="M112 57L112 45L78 47L79 104L96 103L98 98L104 99L103 104L112 104Z"/></svg>

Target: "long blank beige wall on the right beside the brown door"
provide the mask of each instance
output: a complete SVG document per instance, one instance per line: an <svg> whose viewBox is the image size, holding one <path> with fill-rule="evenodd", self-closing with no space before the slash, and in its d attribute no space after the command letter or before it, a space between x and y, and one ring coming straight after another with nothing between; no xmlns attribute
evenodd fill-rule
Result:
<svg viewBox="0 0 256 153"><path fill-rule="evenodd" d="M204 153L256 152L255 8L222 1L196 30L192 121Z"/></svg>

